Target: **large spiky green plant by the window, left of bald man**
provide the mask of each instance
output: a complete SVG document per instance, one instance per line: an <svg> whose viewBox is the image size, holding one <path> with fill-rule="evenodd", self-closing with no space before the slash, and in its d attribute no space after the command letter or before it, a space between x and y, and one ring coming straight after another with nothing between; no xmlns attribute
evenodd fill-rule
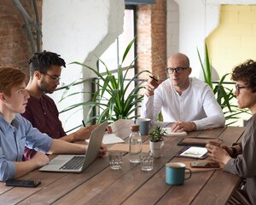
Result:
<svg viewBox="0 0 256 205"><path fill-rule="evenodd" d="M103 76L97 69L90 67L89 65L84 65L83 63L73 62L72 64L82 65L85 68L93 71L96 74L96 90L93 94L92 100L87 102L82 102L79 104L72 105L67 107L67 109L73 109L80 105L89 106L90 111L95 107L99 114L95 117L89 117L86 119L86 122L96 119L96 122L103 122L105 120L116 121L118 119L135 119L137 116L134 114L135 111L141 106L140 103L143 100L143 95L140 94L140 90L143 88L143 82L137 83L137 77L142 73L149 71L140 71L131 77L127 78L128 71L133 67L134 60L128 66L127 70L123 71L122 64L125 61L125 57L131 49L132 44L134 43L135 38L132 39L131 43L125 49L121 64L118 65L117 76L114 76L113 73L108 69L108 66L98 58L99 62L104 65L107 75ZM131 85L134 85L131 88ZM67 98L68 96L66 96Z"/></svg>

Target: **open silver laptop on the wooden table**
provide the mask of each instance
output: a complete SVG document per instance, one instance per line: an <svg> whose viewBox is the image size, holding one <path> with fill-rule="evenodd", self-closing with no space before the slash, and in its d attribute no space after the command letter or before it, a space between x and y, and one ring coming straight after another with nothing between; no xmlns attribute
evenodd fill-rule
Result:
<svg viewBox="0 0 256 205"><path fill-rule="evenodd" d="M95 161L101 149L103 135L108 122L102 122L90 134L90 142L84 155L58 155L39 171L81 173Z"/></svg>

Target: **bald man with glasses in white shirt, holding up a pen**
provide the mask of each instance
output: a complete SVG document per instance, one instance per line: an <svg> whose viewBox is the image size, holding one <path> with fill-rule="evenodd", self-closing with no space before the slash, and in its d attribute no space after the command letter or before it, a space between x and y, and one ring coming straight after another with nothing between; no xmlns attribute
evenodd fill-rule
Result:
<svg viewBox="0 0 256 205"><path fill-rule="evenodd" d="M159 83L148 79L141 117L156 121L161 111L164 122L174 122L172 132L189 132L223 127L221 107L207 83L189 77L192 69L185 54L173 54L167 61L169 78Z"/></svg>

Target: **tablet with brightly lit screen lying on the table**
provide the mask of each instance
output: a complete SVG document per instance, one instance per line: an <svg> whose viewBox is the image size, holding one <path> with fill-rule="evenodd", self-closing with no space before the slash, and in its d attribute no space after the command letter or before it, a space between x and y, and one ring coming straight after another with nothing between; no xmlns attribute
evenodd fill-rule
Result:
<svg viewBox="0 0 256 205"><path fill-rule="evenodd" d="M178 152L177 157L204 159L207 157L207 148L201 146L185 146L183 150Z"/></svg>

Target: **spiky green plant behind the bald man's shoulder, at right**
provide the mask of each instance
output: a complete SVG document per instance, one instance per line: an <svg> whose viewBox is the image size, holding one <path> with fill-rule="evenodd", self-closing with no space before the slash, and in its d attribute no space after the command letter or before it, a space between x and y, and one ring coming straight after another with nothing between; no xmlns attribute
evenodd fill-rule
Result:
<svg viewBox="0 0 256 205"><path fill-rule="evenodd" d="M233 89L230 89L224 86L224 80L227 76L230 75L230 73L224 74L224 76L221 77L220 81L214 86L214 84L212 83L212 65L210 62L209 54L208 54L207 43L205 44L205 50L206 50L206 53L205 53L206 65L203 65L201 61L201 55L197 48L197 54L201 63L201 69L204 74L204 79L205 79L205 82L212 88L213 94L215 94L218 104L224 111L225 119L233 120L227 124L227 125L230 125L236 122L238 118L240 118L239 115L241 113L247 113L247 110L241 110L237 107L237 105L231 104L231 100L236 98L236 96L233 94Z"/></svg>

